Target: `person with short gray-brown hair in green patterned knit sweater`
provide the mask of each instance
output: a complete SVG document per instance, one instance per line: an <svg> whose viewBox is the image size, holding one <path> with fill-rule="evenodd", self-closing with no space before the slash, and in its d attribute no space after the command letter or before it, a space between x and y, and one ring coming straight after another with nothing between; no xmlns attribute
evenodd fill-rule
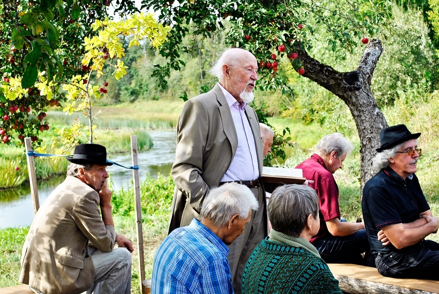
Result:
<svg viewBox="0 0 439 294"><path fill-rule="evenodd" d="M268 217L272 229L245 266L242 293L341 294L339 281L309 242L320 227L316 192L304 185L276 188Z"/></svg>

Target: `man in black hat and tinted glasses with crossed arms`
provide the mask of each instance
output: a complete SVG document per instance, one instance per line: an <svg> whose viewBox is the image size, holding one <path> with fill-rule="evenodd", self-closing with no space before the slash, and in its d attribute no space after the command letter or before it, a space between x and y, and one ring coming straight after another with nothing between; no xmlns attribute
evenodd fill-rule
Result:
<svg viewBox="0 0 439 294"><path fill-rule="evenodd" d="M421 149L406 126L383 129L373 160L378 171L361 202L370 250L383 276L439 279L439 244L424 238L438 231L415 175Z"/></svg>

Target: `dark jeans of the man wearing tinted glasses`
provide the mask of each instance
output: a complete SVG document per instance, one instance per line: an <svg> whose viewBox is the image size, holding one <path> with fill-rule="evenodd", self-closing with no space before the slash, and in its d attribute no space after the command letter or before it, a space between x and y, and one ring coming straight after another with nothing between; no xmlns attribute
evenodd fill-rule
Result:
<svg viewBox="0 0 439 294"><path fill-rule="evenodd" d="M375 264L382 276L439 280L439 244L422 240L389 254L377 254Z"/></svg>

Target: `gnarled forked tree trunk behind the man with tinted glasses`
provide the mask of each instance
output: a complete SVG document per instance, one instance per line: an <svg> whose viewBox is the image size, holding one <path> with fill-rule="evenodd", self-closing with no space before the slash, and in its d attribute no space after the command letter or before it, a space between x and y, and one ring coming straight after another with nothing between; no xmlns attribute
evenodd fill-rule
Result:
<svg viewBox="0 0 439 294"><path fill-rule="evenodd" d="M373 176L372 158L377 153L375 149L380 146L379 132L388 127L370 90L382 51L381 41L373 39L366 46L357 71L348 73L337 72L312 58L304 50L299 53L300 62L305 69L303 76L337 95L346 103L354 117L361 143L361 193L364 184Z"/></svg>

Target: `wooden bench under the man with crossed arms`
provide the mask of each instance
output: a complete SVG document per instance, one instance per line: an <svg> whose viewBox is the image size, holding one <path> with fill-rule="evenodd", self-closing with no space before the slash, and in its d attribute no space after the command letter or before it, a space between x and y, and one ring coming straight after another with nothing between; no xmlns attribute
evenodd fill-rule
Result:
<svg viewBox="0 0 439 294"><path fill-rule="evenodd" d="M376 268L355 264L328 263L328 266L345 293L439 294L439 281L385 277Z"/></svg>

